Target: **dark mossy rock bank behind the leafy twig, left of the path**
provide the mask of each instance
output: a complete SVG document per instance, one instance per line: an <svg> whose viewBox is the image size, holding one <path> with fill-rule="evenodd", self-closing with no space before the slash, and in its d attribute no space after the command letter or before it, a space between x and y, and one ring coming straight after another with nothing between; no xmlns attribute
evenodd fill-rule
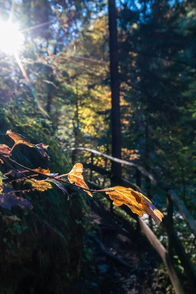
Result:
<svg viewBox="0 0 196 294"><path fill-rule="evenodd" d="M22 145L13 150L12 158L17 162L29 168L49 167L50 172L65 173L71 169L46 120L25 121L24 117L21 120L17 114L1 110L0 144L12 147L14 141L4 135L7 129L21 133L33 144L44 142L49 145L50 162L34 148ZM10 167L1 165L2 172L8 169ZM75 193L73 188L66 188L73 195L70 201L54 187L25 195L34 206L31 212L20 207L10 211L0 209L1 216L16 215L21 220L9 222L0 218L0 294L64 293L79 275L85 196L78 190Z"/></svg>

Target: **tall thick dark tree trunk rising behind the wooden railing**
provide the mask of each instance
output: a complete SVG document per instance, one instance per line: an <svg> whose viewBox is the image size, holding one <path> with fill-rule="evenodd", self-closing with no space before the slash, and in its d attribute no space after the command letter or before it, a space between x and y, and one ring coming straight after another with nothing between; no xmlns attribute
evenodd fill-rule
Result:
<svg viewBox="0 0 196 294"><path fill-rule="evenodd" d="M109 13L109 47L110 47L110 78L112 92L111 129L112 156L121 158L121 116L120 116L120 87L119 87L119 58L117 39L117 17L115 0L108 0ZM112 182L118 184L117 177L122 176L121 164L112 162Z"/></svg>

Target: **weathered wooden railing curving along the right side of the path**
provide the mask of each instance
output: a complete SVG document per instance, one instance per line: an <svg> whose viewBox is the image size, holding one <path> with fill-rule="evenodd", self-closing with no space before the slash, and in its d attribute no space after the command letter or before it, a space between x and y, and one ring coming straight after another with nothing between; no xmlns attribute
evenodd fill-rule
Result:
<svg viewBox="0 0 196 294"><path fill-rule="evenodd" d="M75 150L75 149L76 148L70 148L68 150ZM155 236L153 231L150 229L150 227L147 225L147 223L143 221L140 217L138 217L136 214L132 213L132 211L128 208L128 206L122 205L121 209L123 209L128 215L130 215L132 218L134 218L137 221L137 228L140 227L142 229L142 231L146 235L151 245L153 245L157 253L162 258L166 266L166 269L168 271L168 275L170 277L175 293L184 294L185 292L183 291L179 278L174 269L174 257L173 257L174 251L178 255L179 260L181 261L181 266L184 268L184 271L186 272L186 275L188 277L189 293L196 293L196 270L189 256L186 254L185 249L183 245L181 244L179 238L177 237L177 234L174 231L174 227L173 227L173 210L175 207L179 211L181 216L183 217L184 221L189 226L194 236L196 237L196 221L191 216L190 212L187 210L187 208L185 207L181 199L176 195L176 193L171 189L171 187L162 183L160 180L156 179L150 172L147 172L140 165L134 164L126 160L114 158L112 156L103 154L97 150L82 148L82 147L78 147L77 149L87 150L91 152L91 163L83 164L84 168L90 169L91 171L91 176L90 176L91 181L93 180L93 171L98 172L101 175L106 175L108 177L112 176L110 171L107 171L93 164L94 154L98 154L99 156L106 157L110 160L119 162L127 166L131 166L136 169L136 183L131 183L124 178L119 178L119 180L121 181L124 187L131 187L132 189L145 194L141 189L141 178L143 175L145 177L148 177L153 184L156 184L167 193L167 216L165 216L162 222L162 226L164 230L166 230L167 237L168 237L167 249L157 239L157 237Z"/></svg>

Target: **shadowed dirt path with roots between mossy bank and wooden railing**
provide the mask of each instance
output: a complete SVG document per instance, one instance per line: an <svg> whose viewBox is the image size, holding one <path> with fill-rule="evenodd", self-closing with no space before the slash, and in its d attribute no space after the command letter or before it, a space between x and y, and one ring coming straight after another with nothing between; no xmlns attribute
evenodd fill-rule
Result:
<svg viewBox="0 0 196 294"><path fill-rule="evenodd" d="M87 234L86 246L90 250L87 253L93 253L93 260L86 254L80 281L70 291L74 294L165 294L163 285L168 283L167 276L163 273L158 277L156 265L160 260L146 238L109 210L95 205L91 209L96 237ZM95 239L130 268L105 255Z"/></svg>

